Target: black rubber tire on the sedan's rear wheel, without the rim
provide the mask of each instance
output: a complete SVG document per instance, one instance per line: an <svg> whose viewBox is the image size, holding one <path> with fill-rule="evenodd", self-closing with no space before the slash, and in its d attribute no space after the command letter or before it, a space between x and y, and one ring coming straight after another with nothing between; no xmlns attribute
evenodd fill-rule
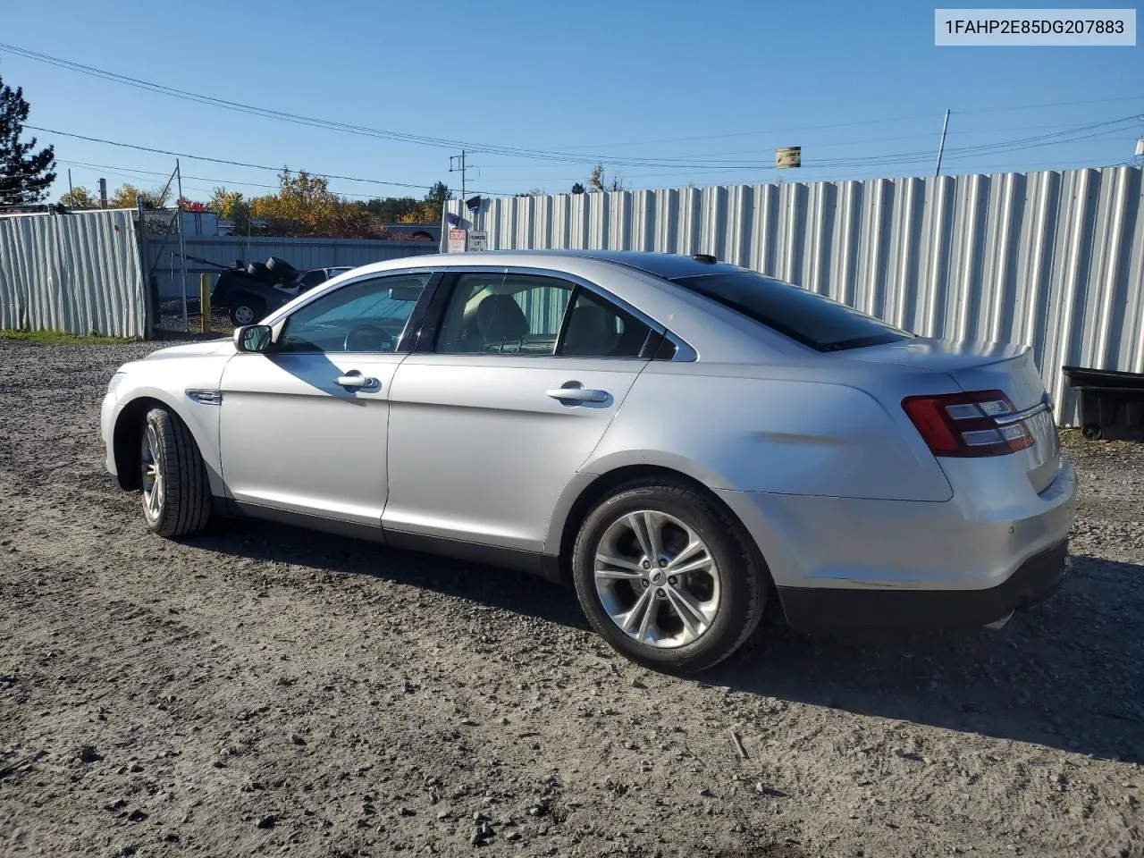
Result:
<svg viewBox="0 0 1144 858"><path fill-rule="evenodd" d="M715 618L684 645L658 648L629 637L609 615L597 591L599 543L613 524L637 510L665 513L692 529L720 571ZM572 578L588 621L613 649L644 667L668 673L704 670L739 649L762 619L769 580L763 558L738 522L706 495L659 478L619 486L588 514L572 550ZM634 583L631 590L636 591Z"/></svg>

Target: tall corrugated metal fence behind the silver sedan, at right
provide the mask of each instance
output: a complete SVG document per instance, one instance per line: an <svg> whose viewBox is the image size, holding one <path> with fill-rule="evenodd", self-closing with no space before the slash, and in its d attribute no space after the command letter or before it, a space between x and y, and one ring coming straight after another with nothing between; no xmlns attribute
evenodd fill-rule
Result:
<svg viewBox="0 0 1144 858"><path fill-rule="evenodd" d="M1144 372L1139 168L513 197L467 225L490 249L710 253L917 334L1024 343L1066 420L1062 365Z"/></svg>

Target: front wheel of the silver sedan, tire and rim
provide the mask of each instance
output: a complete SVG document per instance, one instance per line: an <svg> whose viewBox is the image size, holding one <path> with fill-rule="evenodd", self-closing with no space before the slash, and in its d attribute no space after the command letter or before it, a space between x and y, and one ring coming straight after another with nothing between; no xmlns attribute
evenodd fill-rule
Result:
<svg viewBox="0 0 1144 858"><path fill-rule="evenodd" d="M157 462L152 445L158 452ZM148 527L160 537L183 537L206 527L210 519L210 484L186 424L166 408L152 408L143 418L140 452ZM158 493L154 472L161 478Z"/></svg>

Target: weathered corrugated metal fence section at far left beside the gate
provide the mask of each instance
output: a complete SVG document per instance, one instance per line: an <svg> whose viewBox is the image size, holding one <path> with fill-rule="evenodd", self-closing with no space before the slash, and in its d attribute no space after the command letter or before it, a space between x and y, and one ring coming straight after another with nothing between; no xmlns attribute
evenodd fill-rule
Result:
<svg viewBox="0 0 1144 858"><path fill-rule="evenodd" d="M0 328L143 336L129 210L0 217Z"/></svg>

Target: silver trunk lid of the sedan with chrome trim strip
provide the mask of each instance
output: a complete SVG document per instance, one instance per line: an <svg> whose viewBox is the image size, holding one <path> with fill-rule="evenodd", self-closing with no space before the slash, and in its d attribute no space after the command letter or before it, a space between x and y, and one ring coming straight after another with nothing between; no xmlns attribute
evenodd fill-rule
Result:
<svg viewBox="0 0 1144 858"><path fill-rule="evenodd" d="M1051 407L1036 411L1049 399L1028 347L915 337L844 353L852 360L942 372L967 392L1002 391L1016 411L1035 412L1022 421L1033 436L1033 446L1009 455L1023 460L1030 483L1038 492L1056 478L1060 461L1056 419Z"/></svg>

